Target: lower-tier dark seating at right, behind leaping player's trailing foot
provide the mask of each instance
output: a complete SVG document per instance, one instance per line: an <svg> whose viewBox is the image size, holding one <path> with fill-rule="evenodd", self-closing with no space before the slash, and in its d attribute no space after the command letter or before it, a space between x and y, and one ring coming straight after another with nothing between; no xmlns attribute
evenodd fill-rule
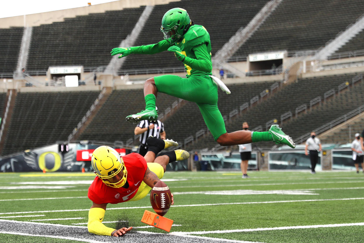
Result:
<svg viewBox="0 0 364 243"><path fill-rule="evenodd" d="M344 74L344 75L298 79L297 82L285 86L283 89L277 91L277 93L273 94L268 99L258 103L252 109L248 110L246 113L243 113L242 116L237 117L231 122L227 121L225 123L226 130L227 132L234 132L236 130L241 130L242 122L247 121L250 125L250 129L254 129L257 128L258 126L261 126L262 130L265 131L266 122L273 119L277 119L277 122L280 122L280 116L288 111L291 111L294 117L296 107L306 103L309 108L311 99L316 98L318 96L321 96L323 99L323 94L331 89L334 89L337 92L338 85L340 85L345 81L350 82L351 79L356 75L357 74ZM342 107L345 108L346 106ZM220 107L220 110L224 109ZM346 112L350 110L352 110L351 107L346 107ZM333 116L336 115L336 113L332 114ZM335 118L336 117L332 119ZM328 119L329 121L332 120L331 118ZM324 121L318 120L317 121L318 123L313 124L313 127L317 128L318 126L325 124L325 121L326 119ZM306 120L305 122L309 123L309 120ZM286 132L293 138L297 138L307 132L304 126L302 126L302 128L304 127L303 129L301 129L299 126L298 126L299 129L297 128L287 129L286 127L288 126L288 124L291 124L288 120L284 121L282 125L284 128L284 132ZM294 126L294 124L295 123L293 122L292 126ZM215 145L217 145L217 143L214 142L212 136L206 136L193 146L187 147L187 149L192 147L196 149L213 148ZM272 142L259 142L256 145L262 148L270 148L273 146Z"/></svg>

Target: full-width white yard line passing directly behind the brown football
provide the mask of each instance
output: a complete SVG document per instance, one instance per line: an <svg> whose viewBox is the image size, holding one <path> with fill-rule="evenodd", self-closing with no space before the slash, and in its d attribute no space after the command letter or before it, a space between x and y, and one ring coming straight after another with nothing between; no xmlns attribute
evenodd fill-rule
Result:
<svg viewBox="0 0 364 243"><path fill-rule="evenodd" d="M171 207L199 207L199 206L213 206L213 205L236 205L236 204L262 204L262 203L296 203L296 202L314 202L314 201L345 201L345 200L363 200L364 197L352 197L352 198L335 198L335 199L307 199L307 200L286 200L286 201L261 201L261 202L242 202L242 203L209 203L209 204L190 204L190 205L173 205ZM117 209L135 209L135 208L151 208L151 206L144 207L119 207L108 208L108 210ZM66 209L66 210L45 210L45 211L27 211L27 212L6 212L5 214L20 214L20 213L49 213L49 212L74 212L74 211L88 211L87 209ZM1 221L1 219L0 219Z"/></svg>

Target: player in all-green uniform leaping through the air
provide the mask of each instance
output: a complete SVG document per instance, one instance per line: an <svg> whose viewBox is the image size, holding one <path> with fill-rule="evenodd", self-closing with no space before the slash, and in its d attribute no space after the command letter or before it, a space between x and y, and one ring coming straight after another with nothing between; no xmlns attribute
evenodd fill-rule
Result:
<svg viewBox="0 0 364 243"><path fill-rule="evenodd" d="M205 27L194 24L185 9L173 8L162 18L161 32L164 40L157 44L114 48L111 55L119 58L130 54L155 54L162 51L174 52L185 64L186 78L176 75L162 75L147 79L144 84L145 110L126 117L127 121L138 122L158 117L155 97L158 92L173 95L197 103L211 134L222 146L247 144L258 141L274 141L295 148L291 137L282 132L278 125L272 125L267 132L236 131L227 133L222 115L217 107L217 84L226 93L229 89L212 75L210 35ZM217 84L216 84L216 83Z"/></svg>

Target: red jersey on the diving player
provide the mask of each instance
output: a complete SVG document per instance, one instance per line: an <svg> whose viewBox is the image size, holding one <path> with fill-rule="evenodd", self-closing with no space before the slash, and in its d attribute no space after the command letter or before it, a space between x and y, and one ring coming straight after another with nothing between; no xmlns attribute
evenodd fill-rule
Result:
<svg viewBox="0 0 364 243"><path fill-rule="evenodd" d="M145 158L138 153L127 154L121 156L123 158L126 170L128 172L126 181L128 188L114 188L106 185L96 176L88 188L88 198L97 204L103 203L122 203L130 200L138 192L138 188L144 179L147 170L147 162Z"/></svg>

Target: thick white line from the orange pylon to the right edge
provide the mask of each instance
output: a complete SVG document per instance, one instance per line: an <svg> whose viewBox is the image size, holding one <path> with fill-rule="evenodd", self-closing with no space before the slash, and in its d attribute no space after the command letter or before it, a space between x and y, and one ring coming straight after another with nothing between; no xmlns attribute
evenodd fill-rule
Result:
<svg viewBox="0 0 364 243"><path fill-rule="evenodd" d="M266 231L266 230L292 230L292 229L308 229L308 228L329 228L329 227L343 227L343 226L364 226L363 223L347 223L347 224L317 224L317 225L303 225L303 226L284 226L272 228L255 228L255 229L241 229L241 230L215 230L215 231L193 231L193 232L171 232L171 235L203 235L203 234L222 234L234 232L252 232L252 231Z"/></svg>

